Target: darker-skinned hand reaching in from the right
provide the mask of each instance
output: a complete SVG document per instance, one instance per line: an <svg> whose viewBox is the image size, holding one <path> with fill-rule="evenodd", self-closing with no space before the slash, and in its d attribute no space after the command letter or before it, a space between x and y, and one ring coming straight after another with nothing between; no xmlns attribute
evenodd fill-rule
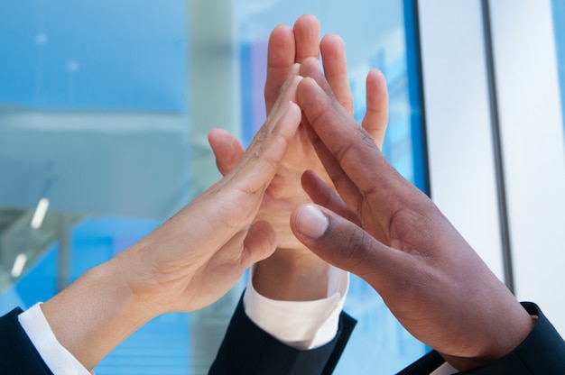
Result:
<svg viewBox="0 0 565 375"><path fill-rule="evenodd" d="M316 60L301 74L321 79ZM327 85L326 85L327 86ZM338 195L312 171L292 230L312 252L375 288L394 316L458 370L511 352L533 318L431 200L384 159L365 129L313 79L297 89L310 138Z"/></svg>

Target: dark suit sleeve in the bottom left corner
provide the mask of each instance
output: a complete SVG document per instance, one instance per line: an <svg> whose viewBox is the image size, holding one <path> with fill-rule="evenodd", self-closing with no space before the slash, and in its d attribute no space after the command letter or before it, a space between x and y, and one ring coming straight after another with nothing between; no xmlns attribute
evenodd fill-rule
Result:
<svg viewBox="0 0 565 375"><path fill-rule="evenodd" d="M22 309L0 317L0 373L52 375L18 321Z"/></svg>

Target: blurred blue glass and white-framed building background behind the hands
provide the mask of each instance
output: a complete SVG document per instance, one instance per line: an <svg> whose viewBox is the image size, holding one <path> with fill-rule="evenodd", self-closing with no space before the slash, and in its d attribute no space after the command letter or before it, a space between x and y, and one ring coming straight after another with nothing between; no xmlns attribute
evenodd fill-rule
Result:
<svg viewBox="0 0 565 375"><path fill-rule="evenodd" d="M560 0L19 0L0 4L0 313L44 301L219 178L206 135L264 122L269 33L316 15L346 42L355 115L390 92L384 155L500 279L565 334L565 3ZM245 288L160 316L104 374L205 374ZM428 348L352 277L337 374Z"/></svg>

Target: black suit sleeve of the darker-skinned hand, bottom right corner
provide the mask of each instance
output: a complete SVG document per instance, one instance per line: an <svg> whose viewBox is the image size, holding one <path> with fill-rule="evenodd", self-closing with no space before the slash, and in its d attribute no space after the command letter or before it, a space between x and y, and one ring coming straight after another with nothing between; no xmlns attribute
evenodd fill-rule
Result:
<svg viewBox="0 0 565 375"><path fill-rule="evenodd" d="M542 310L531 302L522 306L532 316L538 316L533 331L514 351L503 358L477 369L458 372L465 375L560 375L565 373L565 342ZM403 375L429 375L443 363L438 352L432 351L399 372Z"/></svg>

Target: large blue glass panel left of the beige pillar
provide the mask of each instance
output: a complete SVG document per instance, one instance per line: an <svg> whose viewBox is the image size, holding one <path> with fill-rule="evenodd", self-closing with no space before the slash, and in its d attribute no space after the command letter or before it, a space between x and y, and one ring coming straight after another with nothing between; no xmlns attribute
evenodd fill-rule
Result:
<svg viewBox="0 0 565 375"><path fill-rule="evenodd" d="M0 2L2 314L50 298L186 203L187 39L183 0ZM97 373L186 374L189 325L155 319Z"/></svg>

